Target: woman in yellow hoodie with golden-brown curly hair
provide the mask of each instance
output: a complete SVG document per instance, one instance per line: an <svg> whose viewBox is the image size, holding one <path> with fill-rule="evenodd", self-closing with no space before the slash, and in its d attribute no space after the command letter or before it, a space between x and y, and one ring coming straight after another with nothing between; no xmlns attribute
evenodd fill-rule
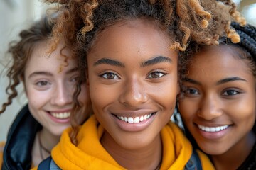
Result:
<svg viewBox="0 0 256 170"><path fill-rule="evenodd" d="M200 4L187 1L60 4L52 42L64 39L77 52L94 115L63 132L51 163L60 169L186 169L191 143L170 122L179 93L178 62L183 62L178 50L186 49L191 36L215 43L218 34L230 32L228 19L213 20ZM212 13L219 6L204 5ZM73 113L79 111L78 106ZM203 169L213 169L198 154Z"/></svg>

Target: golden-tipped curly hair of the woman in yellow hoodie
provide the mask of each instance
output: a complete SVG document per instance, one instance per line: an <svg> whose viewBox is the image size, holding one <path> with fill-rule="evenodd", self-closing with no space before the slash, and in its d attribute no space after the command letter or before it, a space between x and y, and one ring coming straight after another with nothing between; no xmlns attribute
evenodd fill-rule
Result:
<svg viewBox="0 0 256 170"><path fill-rule="evenodd" d="M53 28L52 50L60 40L73 49L78 57L80 79L85 79L86 57L95 38L108 26L134 18L153 19L167 30L174 44L170 49L184 51L193 40L199 44L218 44L220 36L228 36L233 42L240 38L230 27L231 21L245 25L245 19L236 11L232 1L216 0L46 0L57 3L60 12ZM180 60L179 65L184 61ZM79 89L79 85L78 85ZM77 91L79 92L79 90ZM78 93L75 94L78 96ZM75 99L77 100L77 99ZM78 106L75 111L80 112ZM72 116L72 115L71 115ZM71 121L74 144L78 132L77 123Z"/></svg>

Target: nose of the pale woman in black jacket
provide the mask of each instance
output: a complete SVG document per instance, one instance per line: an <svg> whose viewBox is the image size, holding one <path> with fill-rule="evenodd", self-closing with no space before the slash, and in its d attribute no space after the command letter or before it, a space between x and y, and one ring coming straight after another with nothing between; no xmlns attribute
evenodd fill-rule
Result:
<svg viewBox="0 0 256 170"><path fill-rule="evenodd" d="M73 102L73 89L68 84L59 84L53 91L51 104L65 106Z"/></svg>

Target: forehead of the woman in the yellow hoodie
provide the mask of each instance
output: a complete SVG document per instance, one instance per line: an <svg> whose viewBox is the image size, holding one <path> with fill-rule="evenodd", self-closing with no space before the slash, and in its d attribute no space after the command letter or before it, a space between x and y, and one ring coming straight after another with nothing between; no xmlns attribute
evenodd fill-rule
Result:
<svg viewBox="0 0 256 170"><path fill-rule="evenodd" d="M88 58L92 54L94 57L126 55L129 59L136 58L134 56L169 55L170 52L176 54L169 50L171 43L166 31L161 30L154 21L135 19L119 22L102 30L88 53Z"/></svg>

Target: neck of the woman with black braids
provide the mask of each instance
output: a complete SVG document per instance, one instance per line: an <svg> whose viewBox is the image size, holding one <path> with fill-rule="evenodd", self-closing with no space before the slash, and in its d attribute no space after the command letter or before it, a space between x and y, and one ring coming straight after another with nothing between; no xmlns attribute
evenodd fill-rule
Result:
<svg viewBox="0 0 256 170"><path fill-rule="evenodd" d="M243 140L228 149L227 152L218 155L212 155L211 159L216 169L238 169L249 156L252 147L255 144L255 134L250 132Z"/></svg>

